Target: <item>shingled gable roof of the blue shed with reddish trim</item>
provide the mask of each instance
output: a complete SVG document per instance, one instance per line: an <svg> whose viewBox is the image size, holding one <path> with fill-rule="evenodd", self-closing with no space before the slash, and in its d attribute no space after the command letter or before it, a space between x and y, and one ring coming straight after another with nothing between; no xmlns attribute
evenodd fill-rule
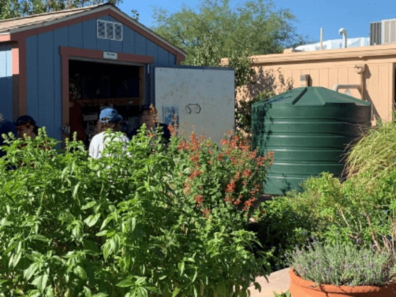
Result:
<svg viewBox="0 0 396 297"><path fill-rule="evenodd" d="M118 13L122 17L125 17L129 22L132 22L135 26L138 26L140 29L146 31L148 34L153 36L154 38L159 39L162 43L169 45L174 50L185 56L187 53L181 48L176 47L172 43L169 43L168 40L162 38L157 33L148 29L143 24L137 22L137 20L133 19L126 13L123 13L122 10L112 5L111 3L99 4L94 6L86 6L82 8L73 8L68 10L59 10L51 13L40 13L38 15L28 15L26 17L17 17L14 19L8 20L0 20L0 37L2 35L8 35L13 33L19 33L22 31L27 31L30 29L35 29L38 27L50 26L52 24L56 24L59 22L66 22L68 20L73 20L77 17L82 17L85 15L89 15L91 13L97 13L101 10L111 9L114 10L115 13Z"/></svg>

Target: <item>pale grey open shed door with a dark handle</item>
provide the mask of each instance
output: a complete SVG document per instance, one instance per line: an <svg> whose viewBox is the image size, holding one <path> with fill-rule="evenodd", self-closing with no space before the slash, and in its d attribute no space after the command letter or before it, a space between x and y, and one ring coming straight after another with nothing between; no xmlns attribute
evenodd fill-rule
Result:
<svg viewBox="0 0 396 297"><path fill-rule="evenodd" d="M178 107L178 123L186 136L195 130L219 143L235 128L234 70L155 68L160 122L168 106Z"/></svg>

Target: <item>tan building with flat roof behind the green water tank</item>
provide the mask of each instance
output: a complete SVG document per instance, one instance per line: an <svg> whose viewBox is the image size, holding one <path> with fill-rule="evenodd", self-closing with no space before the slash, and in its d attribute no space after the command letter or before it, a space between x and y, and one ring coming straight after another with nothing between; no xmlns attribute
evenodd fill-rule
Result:
<svg viewBox="0 0 396 297"><path fill-rule="evenodd" d="M252 56L257 84L242 88L239 100L264 90L282 93L298 86L323 86L367 100L374 119L393 119L396 45Z"/></svg>

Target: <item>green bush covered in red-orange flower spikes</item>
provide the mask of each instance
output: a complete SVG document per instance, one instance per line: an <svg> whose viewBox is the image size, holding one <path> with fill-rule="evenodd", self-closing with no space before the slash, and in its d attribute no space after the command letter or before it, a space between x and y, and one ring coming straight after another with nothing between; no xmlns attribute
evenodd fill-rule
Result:
<svg viewBox="0 0 396 297"><path fill-rule="evenodd" d="M260 157L238 136L223 139L218 146L195 133L189 140L173 137L168 153L175 164L172 186L194 209L206 216L233 213L227 220L230 224L248 222L271 165L271 153Z"/></svg>

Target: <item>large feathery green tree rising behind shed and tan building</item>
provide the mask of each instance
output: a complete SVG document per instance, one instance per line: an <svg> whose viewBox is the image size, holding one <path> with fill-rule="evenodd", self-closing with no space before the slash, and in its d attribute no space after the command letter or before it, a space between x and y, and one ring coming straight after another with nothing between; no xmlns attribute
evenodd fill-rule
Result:
<svg viewBox="0 0 396 297"><path fill-rule="evenodd" d="M215 48L212 54L216 59L235 52L277 53L302 40L292 24L294 15L275 8L269 0L247 1L236 8L229 0L204 0L198 11L184 6L169 14L156 8L153 18L154 31L188 52L188 64L196 62L208 40Z"/></svg>

